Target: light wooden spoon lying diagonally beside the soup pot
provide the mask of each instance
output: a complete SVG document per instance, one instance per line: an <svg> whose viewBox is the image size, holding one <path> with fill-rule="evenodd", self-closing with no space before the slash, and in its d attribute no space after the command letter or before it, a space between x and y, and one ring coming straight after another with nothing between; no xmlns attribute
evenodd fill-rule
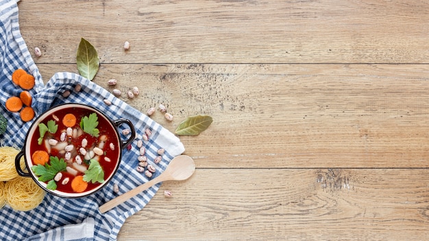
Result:
<svg viewBox="0 0 429 241"><path fill-rule="evenodd" d="M124 194L115 197L114 199L104 203L99 207L101 214L108 212L113 207L131 199L140 192L143 192L147 188L154 186L156 183L161 181L182 181L186 180L193 175L195 171L195 162L188 155L178 155L171 160L169 166L161 173L158 177L151 179L147 183L144 183Z"/></svg>

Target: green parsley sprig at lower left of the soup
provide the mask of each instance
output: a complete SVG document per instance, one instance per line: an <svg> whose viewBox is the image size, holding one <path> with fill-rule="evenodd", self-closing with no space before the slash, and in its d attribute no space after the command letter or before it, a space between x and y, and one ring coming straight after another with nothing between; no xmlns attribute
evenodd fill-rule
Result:
<svg viewBox="0 0 429 241"><path fill-rule="evenodd" d="M53 177L57 175L57 173L66 170L67 164L64 159L58 159L58 157L49 157L49 163L45 164L45 166L38 164L37 166L32 166L32 170L34 174L38 175L39 181L49 181L47 188L51 190L56 190L56 184L53 185Z"/></svg>

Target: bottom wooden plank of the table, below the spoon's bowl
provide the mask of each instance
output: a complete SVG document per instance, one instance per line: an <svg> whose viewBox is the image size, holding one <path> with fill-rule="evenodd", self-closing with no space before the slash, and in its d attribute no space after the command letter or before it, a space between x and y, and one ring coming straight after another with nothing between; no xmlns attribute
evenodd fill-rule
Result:
<svg viewBox="0 0 429 241"><path fill-rule="evenodd" d="M428 182L427 169L197 169L119 240L428 240Z"/></svg>

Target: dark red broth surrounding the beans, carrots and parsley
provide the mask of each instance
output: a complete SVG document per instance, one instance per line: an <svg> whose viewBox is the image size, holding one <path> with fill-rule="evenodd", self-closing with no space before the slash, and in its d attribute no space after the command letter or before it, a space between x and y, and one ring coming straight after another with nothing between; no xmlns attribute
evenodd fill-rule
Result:
<svg viewBox="0 0 429 241"><path fill-rule="evenodd" d="M61 142L61 134L63 132L66 132L66 129L67 129L67 127L64 126L64 124L62 123L62 119L66 114L69 114L69 113L73 113L76 116L77 121L76 121L76 124L73 127L71 127L75 131L74 136L73 135L66 136L66 140L64 141L66 142L67 145L73 144L73 150L70 151L71 158L69 158L69 160L66 160L66 156L65 156L66 151L64 150L64 142ZM106 118L103 118L103 116L100 116L97 113L96 113L98 117L97 129L99 129L99 136L95 137L82 130L82 128L80 127L81 119L84 118L84 116L89 116L90 114L93 114L93 113L96 113L96 112L94 112L93 110L87 110L79 107L62 109L62 110L53 112L53 114L51 114L50 116L47 116L47 118L40 121L40 123L44 123L45 125L47 125L48 121L51 121L51 120L56 121L56 118L58 118L59 121L56 121L56 125L58 125L58 129L56 133L51 134L49 131L47 131L43 138L42 143L38 144L38 138L40 137L40 134L39 134L40 132L39 132L39 127L37 127L36 131L34 132L32 142L30 144L30 153L34 153L35 151L38 151L38 150L47 151L50 157L56 156L58 157L58 159L64 159L66 161L67 166L73 168L73 170L76 170L73 167L73 162L77 162L75 160L75 157L77 155L81 157L83 166L86 166L86 168L88 168L89 166L89 161L85 159L84 155L79 153L79 149L82 147L82 140L86 138L86 140L88 141L88 144L86 145L86 147L84 147L84 149L86 149L87 152L92 150L93 147L100 147L99 146L100 142L104 142L103 148L101 148L103 150L103 155L100 155L100 156L95 155L94 158L97 158L101 168L103 168L104 179L106 181L106 179L110 177L110 175L112 175L112 173L115 170L115 166L117 165L117 162L119 160L119 151L121 147L119 147L119 140L115 129L112 127L110 122L106 120ZM48 143L49 139L58 140L58 144L50 145ZM110 147L111 144L114 146L113 149ZM60 147L61 145L63 147ZM56 147L59 147L59 148L57 149ZM32 163L33 165L35 165L34 162ZM76 170L76 171L77 171L77 175L84 175L82 171L79 171L79 170ZM56 190L60 192L75 193L75 191L73 191L73 189L71 188L71 181L73 180L75 175L67 171L62 171L61 173L62 173L62 178L60 179L60 181L56 181L56 184L57 184ZM69 181L64 185L62 183L66 178L69 178ZM48 183L48 181L45 181L45 183ZM89 181L88 187L86 188L86 190L84 190L84 192L93 190L94 188L97 188L97 186L100 186L101 184L102 183L99 183L99 182L92 183L91 181Z"/></svg>

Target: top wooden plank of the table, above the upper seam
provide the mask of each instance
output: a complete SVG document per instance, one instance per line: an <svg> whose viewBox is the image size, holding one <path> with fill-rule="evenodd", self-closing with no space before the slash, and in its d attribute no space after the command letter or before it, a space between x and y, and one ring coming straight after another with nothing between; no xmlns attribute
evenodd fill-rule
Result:
<svg viewBox="0 0 429 241"><path fill-rule="evenodd" d="M36 62L427 63L427 1L40 1L19 3ZM58 27L57 27L58 26ZM130 41L131 50L123 51Z"/></svg>

